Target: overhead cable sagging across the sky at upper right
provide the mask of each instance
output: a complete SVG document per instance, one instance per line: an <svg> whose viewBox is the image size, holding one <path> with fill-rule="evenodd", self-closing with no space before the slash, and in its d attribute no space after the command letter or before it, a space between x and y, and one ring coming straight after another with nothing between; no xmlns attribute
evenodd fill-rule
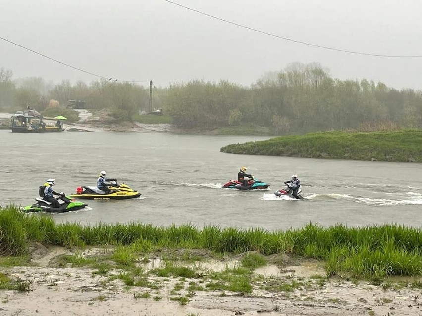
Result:
<svg viewBox="0 0 422 316"><path fill-rule="evenodd" d="M422 55L421 56L419 56L419 55L416 55L416 56L412 56L412 55L406 56L406 55L372 54L372 53L365 53L365 52L359 52L359 51L353 51L353 50L347 50L347 49L339 49L339 48L333 48L333 47L328 47L328 46L322 46L322 45L307 43L307 42L303 42L303 41L291 39L291 38L288 38L288 37L283 37L283 36L280 36L280 35L276 35L276 34L273 34L273 33L268 33L268 32L262 31L262 30L254 29L252 27L249 27L249 26L246 26L246 25L242 25L242 24L239 24L239 23L235 23L235 22L232 22L232 21L229 21L229 20L225 20L225 19L219 18L219 17L217 17L215 15L211 15L211 14L208 14L208 13L205 13L205 12L202 12L202 11L199 11L199 10L196 10L196 9L193 9L191 7L188 7L188 6L185 6L185 5L182 5L180 3L176 3L176 2L170 1L170 0L164 0L164 1L166 1L168 3L171 3L171 4L174 4L174 5L177 5L177 6L180 6L180 7L184 8L184 9L187 9L187 10L190 10L190 11L193 11L193 12L196 12L196 13L199 13L199 14L202 14L202 15L205 15L205 16L208 16L208 17L211 17L213 19L216 19L216 20L219 20L219 21L228 23L228 24L232 24L232 25L235 25L235 26L238 26L238 27L241 27L241 28L250 30L250 31L258 32L258 33L261 33L261 34L265 34L265 35L268 35L268 36L276 37L276 38L279 38L279 39L282 39L282 40L285 40L285 41L290 41L290 42L294 42L294 43L298 43L298 44L303 44L303 45L308 45L308 46L313 46L313 47L323 48L323 49L328 49L328 50L334 50L334 51L339 51L339 52L344 52L344 53L349 53L349 54L372 56L372 57L422 58Z"/></svg>

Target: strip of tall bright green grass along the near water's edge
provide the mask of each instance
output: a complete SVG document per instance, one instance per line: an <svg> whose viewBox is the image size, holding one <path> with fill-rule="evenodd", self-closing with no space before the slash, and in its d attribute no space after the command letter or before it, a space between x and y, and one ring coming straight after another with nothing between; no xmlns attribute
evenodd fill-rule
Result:
<svg viewBox="0 0 422 316"><path fill-rule="evenodd" d="M25 256L31 242L65 247L117 245L122 262L163 249L205 249L220 254L256 251L323 261L328 276L422 275L422 230L394 224L361 228L308 224L275 232L262 228L198 229L192 225L158 227L142 223L82 226L56 224L50 217L24 214L14 206L1 208L0 254Z"/></svg>

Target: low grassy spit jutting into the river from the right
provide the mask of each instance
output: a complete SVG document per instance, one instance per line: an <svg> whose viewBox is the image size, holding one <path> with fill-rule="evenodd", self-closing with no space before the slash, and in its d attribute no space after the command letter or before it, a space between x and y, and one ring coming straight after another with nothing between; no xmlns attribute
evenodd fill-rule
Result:
<svg viewBox="0 0 422 316"><path fill-rule="evenodd" d="M422 130L288 135L221 148L234 154L422 162Z"/></svg>

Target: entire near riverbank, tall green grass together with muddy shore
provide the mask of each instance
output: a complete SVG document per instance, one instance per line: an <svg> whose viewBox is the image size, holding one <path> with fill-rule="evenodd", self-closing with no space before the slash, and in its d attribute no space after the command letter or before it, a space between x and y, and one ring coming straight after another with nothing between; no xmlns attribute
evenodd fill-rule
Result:
<svg viewBox="0 0 422 316"><path fill-rule="evenodd" d="M415 315L421 229L56 224L0 208L4 315Z"/></svg>

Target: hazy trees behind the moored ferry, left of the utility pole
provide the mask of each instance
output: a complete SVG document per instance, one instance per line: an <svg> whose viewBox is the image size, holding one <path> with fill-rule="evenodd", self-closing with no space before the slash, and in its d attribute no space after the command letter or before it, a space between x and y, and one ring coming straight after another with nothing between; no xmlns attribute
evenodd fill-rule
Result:
<svg viewBox="0 0 422 316"><path fill-rule="evenodd" d="M63 80L52 84L39 77L18 80L12 77L11 70L0 68L0 110L3 111L22 110L28 105L43 111L51 106L50 100L58 101L60 107L66 107L69 100L82 100L87 108L108 109L121 120L131 120L140 110L148 110L149 89L133 83L100 80L72 84Z"/></svg>

